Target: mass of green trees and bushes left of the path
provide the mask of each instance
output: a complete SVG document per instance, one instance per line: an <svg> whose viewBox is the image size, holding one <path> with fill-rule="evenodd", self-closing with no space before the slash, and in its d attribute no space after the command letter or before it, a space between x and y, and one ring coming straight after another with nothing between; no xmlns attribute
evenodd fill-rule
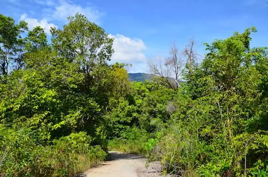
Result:
<svg viewBox="0 0 268 177"><path fill-rule="evenodd" d="M75 176L106 159L105 113L129 94L128 75L106 63L104 30L79 14L69 21L50 45L42 28L22 38L27 25L0 16L1 50L13 51L0 62L20 65L0 73L0 176Z"/></svg>

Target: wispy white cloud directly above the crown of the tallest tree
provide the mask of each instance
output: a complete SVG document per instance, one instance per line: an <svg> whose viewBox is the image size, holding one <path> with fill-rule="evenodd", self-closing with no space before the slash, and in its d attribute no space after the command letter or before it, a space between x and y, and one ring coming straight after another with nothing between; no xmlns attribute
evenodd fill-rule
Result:
<svg viewBox="0 0 268 177"><path fill-rule="evenodd" d="M90 21L97 22L102 13L96 8L78 4L73 4L65 0L60 0L59 5L56 6L53 18L57 20L66 20L69 16L74 16L76 13L85 15Z"/></svg>

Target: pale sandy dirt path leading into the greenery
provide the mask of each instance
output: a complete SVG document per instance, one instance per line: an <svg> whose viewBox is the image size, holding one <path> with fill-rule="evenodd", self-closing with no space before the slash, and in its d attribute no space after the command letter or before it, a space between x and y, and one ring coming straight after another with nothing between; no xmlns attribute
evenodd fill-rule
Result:
<svg viewBox="0 0 268 177"><path fill-rule="evenodd" d="M85 177L158 177L158 172L145 168L146 159L134 154L112 151L111 160L84 174Z"/></svg>

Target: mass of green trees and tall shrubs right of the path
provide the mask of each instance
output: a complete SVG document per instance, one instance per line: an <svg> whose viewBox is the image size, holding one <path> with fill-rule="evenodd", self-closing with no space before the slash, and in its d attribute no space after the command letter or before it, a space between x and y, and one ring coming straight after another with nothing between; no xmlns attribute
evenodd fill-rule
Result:
<svg viewBox="0 0 268 177"><path fill-rule="evenodd" d="M156 144L165 173L250 176L266 173L267 48L250 49L250 32L207 46L201 66L186 75L175 112ZM153 159L153 158L152 158ZM258 162L262 165L257 166Z"/></svg>

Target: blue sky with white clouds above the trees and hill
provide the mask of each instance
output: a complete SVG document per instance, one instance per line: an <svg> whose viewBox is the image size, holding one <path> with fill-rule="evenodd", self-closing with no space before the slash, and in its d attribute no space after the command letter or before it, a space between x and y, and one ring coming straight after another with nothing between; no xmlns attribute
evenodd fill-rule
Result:
<svg viewBox="0 0 268 177"><path fill-rule="evenodd" d="M1 0L0 13L23 19L30 28L62 27L76 12L115 38L112 62L132 63L129 72L148 72L147 58L168 56L172 42L196 52L203 43L255 26L252 47L268 46L268 0Z"/></svg>

